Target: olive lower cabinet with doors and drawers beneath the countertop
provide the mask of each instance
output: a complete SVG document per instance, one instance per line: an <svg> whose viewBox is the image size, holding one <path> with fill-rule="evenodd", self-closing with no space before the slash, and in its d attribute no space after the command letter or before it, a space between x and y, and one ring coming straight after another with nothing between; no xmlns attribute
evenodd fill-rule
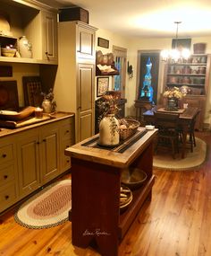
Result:
<svg viewBox="0 0 211 256"><path fill-rule="evenodd" d="M64 149L74 144L74 116L0 138L0 212L71 167Z"/></svg>

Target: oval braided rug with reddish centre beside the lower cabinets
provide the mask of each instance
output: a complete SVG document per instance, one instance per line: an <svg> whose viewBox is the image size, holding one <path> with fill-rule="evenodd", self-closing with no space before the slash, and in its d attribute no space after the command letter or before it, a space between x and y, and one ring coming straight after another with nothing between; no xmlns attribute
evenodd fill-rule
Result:
<svg viewBox="0 0 211 256"><path fill-rule="evenodd" d="M57 181L25 201L14 219L28 228L49 228L67 221L71 207L72 181Z"/></svg>

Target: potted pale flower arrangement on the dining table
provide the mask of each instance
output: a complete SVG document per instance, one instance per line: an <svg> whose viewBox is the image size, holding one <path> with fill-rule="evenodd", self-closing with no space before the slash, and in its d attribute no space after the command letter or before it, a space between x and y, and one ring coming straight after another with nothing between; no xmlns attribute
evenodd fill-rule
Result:
<svg viewBox="0 0 211 256"><path fill-rule="evenodd" d="M179 101L185 96L178 87L166 87L164 97L167 99L165 110L177 111L179 109Z"/></svg>

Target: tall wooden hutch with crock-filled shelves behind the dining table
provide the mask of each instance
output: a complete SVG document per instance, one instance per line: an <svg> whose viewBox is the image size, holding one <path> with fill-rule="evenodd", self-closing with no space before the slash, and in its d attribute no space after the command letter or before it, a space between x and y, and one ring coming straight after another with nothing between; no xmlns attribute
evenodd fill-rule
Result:
<svg viewBox="0 0 211 256"><path fill-rule="evenodd" d="M187 61L168 62L165 66L165 86L180 88L186 96L183 102L198 107L200 113L196 128L202 129L210 72L210 55L194 54Z"/></svg>

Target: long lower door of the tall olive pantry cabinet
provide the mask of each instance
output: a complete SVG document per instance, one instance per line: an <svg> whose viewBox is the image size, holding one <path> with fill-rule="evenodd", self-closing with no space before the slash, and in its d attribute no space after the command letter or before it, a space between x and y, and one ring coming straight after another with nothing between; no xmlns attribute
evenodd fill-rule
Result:
<svg viewBox="0 0 211 256"><path fill-rule="evenodd" d="M94 135L94 65L79 64L78 141Z"/></svg>

